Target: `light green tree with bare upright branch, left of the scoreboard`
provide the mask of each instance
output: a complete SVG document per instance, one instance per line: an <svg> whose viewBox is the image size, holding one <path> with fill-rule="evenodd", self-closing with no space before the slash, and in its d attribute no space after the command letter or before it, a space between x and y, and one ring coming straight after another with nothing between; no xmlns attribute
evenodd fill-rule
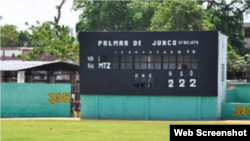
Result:
<svg viewBox="0 0 250 141"><path fill-rule="evenodd" d="M58 17L54 22L48 21L40 25L31 25L28 27L28 40L34 47L27 56L19 55L19 58L25 60L35 60L48 53L60 60L78 60L79 45L75 37L70 35L68 26L59 25L61 17L61 8L65 0L62 0L60 6L57 6ZM28 23L26 23L28 25Z"/></svg>

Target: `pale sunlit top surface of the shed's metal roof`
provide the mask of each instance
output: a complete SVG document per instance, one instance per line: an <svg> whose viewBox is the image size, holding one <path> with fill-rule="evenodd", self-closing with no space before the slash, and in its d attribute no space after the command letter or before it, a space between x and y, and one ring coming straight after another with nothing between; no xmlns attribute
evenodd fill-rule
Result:
<svg viewBox="0 0 250 141"><path fill-rule="evenodd" d="M35 67L42 67L45 65L54 65L54 64L67 64L72 66L79 66L77 64L72 64L68 62L61 61L53 61L53 62L45 62L45 61L0 61L0 71L20 71L31 69Z"/></svg>

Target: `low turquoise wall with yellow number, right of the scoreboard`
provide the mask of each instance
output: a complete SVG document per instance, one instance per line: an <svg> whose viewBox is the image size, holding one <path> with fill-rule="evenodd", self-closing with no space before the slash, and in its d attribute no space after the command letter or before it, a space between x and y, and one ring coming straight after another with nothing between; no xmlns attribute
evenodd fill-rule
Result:
<svg viewBox="0 0 250 141"><path fill-rule="evenodd" d="M235 120L250 119L250 103L223 103L221 118Z"/></svg>

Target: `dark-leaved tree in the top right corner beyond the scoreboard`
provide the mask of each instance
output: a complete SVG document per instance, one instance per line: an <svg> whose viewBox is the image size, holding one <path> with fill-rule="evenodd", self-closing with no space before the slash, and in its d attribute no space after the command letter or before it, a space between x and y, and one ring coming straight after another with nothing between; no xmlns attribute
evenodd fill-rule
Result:
<svg viewBox="0 0 250 141"><path fill-rule="evenodd" d="M229 44L236 53L246 54L242 29L244 13L249 14L250 0L198 0L198 3L206 5L204 8L210 13L211 23L229 36Z"/></svg>

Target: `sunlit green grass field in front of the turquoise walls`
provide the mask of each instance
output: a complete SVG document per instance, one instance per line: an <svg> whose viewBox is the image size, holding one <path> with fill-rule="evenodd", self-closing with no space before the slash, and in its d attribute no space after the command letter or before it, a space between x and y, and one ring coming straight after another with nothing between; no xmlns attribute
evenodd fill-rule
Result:
<svg viewBox="0 0 250 141"><path fill-rule="evenodd" d="M0 120L0 141L168 141L170 124L183 123Z"/></svg>

